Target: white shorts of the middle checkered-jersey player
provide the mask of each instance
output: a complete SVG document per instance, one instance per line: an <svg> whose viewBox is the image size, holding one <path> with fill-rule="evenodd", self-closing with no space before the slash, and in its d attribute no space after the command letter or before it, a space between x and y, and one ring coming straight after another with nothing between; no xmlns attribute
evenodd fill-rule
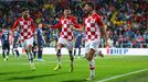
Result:
<svg viewBox="0 0 148 82"><path fill-rule="evenodd" d="M68 42L67 39L60 37L57 44L64 45L68 50L73 50L73 40Z"/></svg>

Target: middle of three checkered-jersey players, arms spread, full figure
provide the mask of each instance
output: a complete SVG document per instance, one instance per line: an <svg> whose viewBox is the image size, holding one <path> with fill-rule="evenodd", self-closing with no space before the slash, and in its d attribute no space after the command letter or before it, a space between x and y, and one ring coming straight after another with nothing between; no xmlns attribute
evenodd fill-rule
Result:
<svg viewBox="0 0 148 82"><path fill-rule="evenodd" d="M70 72L73 71L73 62L74 57L72 54L73 50L73 31L71 30L71 25L74 25L76 28L78 27L78 24L75 22L75 17L71 15L71 9L68 7L65 7L64 9L64 16L61 17L59 24L55 25L49 25L52 28L60 28L62 27L62 32L60 34L60 38L57 42L57 66L54 68L54 70L61 69L61 48L65 46L68 49L70 59L71 59L71 69Z"/></svg>

